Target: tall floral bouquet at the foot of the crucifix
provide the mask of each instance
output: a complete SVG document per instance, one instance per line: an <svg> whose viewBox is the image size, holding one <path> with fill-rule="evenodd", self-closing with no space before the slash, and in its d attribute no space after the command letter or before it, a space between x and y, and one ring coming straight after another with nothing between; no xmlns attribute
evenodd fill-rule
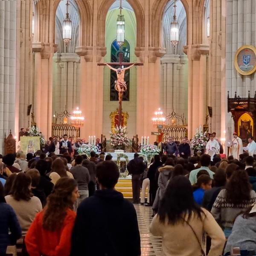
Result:
<svg viewBox="0 0 256 256"><path fill-rule="evenodd" d="M124 148L130 145L130 140L127 136L126 126L116 125L115 133L110 132L110 143L116 149Z"/></svg>

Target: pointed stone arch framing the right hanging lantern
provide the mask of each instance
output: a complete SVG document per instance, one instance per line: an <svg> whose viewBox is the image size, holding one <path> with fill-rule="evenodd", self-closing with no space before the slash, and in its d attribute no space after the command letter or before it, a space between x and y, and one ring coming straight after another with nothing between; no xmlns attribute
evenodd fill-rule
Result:
<svg viewBox="0 0 256 256"><path fill-rule="evenodd" d="M169 0L155 0L153 3L149 19L149 47L161 47L163 13L168 2ZM189 5L187 0L181 0L181 2L186 11L187 24L189 24Z"/></svg>

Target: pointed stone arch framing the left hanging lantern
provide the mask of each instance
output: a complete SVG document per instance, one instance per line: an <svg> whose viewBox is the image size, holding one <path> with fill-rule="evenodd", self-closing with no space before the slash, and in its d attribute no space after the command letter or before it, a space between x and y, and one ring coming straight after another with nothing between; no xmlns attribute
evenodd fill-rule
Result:
<svg viewBox="0 0 256 256"><path fill-rule="evenodd" d="M61 0L54 1L53 14L55 17L58 4ZM93 45L93 13L88 1L76 1L79 10L79 46ZM55 24L55 19L54 19ZM55 29L55 26L54 26ZM55 33L54 33L55 34ZM54 37L53 37L54 38Z"/></svg>

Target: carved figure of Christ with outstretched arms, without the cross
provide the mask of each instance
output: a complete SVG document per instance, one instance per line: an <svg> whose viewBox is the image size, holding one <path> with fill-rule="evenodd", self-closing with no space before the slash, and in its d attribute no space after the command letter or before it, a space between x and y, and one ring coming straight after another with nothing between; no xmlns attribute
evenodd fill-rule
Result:
<svg viewBox="0 0 256 256"><path fill-rule="evenodd" d="M111 67L110 65L108 65L108 63L104 63L106 64L111 70L114 70L116 71L116 76L117 76L117 81L115 81L115 89L118 91L118 100L119 100L119 103L122 102L122 96L124 94L124 92L127 90L127 86L126 86L126 82L125 82L125 70L128 70L130 69L131 67L133 67L135 65L132 64L131 66L129 67L125 67L125 68L113 68Z"/></svg>

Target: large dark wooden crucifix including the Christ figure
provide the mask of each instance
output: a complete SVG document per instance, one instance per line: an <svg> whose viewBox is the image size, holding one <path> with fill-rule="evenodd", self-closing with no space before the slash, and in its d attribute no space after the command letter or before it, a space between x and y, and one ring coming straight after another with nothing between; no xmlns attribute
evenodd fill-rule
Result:
<svg viewBox="0 0 256 256"><path fill-rule="evenodd" d="M122 62L123 53L119 52L118 54L119 62L111 62L111 63L98 63L98 66L107 65L111 70L116 71L117 81L115 81L115 90L118 91L118 100L119 100L119 111L118 111L118 125L121 125L122 120L122 96L123 93L127 90L126 82L125 82L125 70L130 69L133 66L142 66L143 63L129 63ZM119 65L119 68L113 68L111 65ZM122 66L129 66L122 68Z"/></svg>

